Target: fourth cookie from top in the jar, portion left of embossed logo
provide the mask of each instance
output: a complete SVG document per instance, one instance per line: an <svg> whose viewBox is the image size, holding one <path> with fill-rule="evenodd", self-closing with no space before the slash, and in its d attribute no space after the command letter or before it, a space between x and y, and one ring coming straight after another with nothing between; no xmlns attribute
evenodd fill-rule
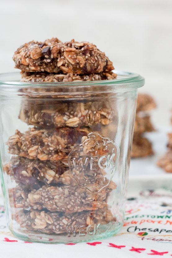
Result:
<svg viewBox="0 0 172 258"><path fill-rule="evenodd" d="M53 128L51 130L29 128L25 133L16 130L7 142L10 154L29 159L60 160L86 139L88 128Z"/></svg>

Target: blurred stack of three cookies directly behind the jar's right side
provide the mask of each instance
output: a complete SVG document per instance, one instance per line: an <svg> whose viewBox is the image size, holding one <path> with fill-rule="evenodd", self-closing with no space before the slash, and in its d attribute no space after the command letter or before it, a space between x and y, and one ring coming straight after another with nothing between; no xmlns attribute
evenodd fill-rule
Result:
<svg viewBox="0 0 172 258"><path fill-rule="evenodd" d="M152 144L144 137L144 133L154 131L148 111L155 107L155 101L151 96L148 94L138 94L133 147L131 152L132 158L141 158L153 155Z"/></svg>

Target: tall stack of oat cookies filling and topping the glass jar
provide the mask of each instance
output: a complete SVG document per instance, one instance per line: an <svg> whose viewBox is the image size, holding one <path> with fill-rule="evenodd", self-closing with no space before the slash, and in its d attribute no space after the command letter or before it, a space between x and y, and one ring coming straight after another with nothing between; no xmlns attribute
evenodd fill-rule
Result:
<svg viewBox="0 0 172 258"><path fill-rule="evenodd" d="M89 42L63 43L57 38L31 41L15 51L13 60L15 68L21 70L21 81L27 85L110 80L117 76L108 57ZM23 95L19 118L30 127L24 133L16 128L7 142L12 155L5 171L16 183L9 189L11 206L17 208L14 219L28 232L47 234L67 234L67 227L75 226L77 232L79 225L115 221L107 204L115 183L108 183L99 167L94 168L95 173L87 170L86 158L84 164L74 164L71 177L68 162L71 150L84 145L95 125L100 128L114 121L114 101L104 97L95 102L69 102L58 94L47 94ZM94 136L93 143L101 141L99 134ZM106 154L107 146L93 143L84 145L83 156ZM79 154L76 152L73 162ZM101 194L96 194L101 188Z"/></svg>

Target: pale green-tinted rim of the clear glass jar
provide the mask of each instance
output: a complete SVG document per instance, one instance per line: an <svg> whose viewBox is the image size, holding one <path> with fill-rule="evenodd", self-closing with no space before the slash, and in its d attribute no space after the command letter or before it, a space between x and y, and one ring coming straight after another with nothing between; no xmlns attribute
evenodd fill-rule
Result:
<svg viewBox="0 0 172 258"><path fill-rule="evenodd" d="M82 81L82 82L20 82L21 75L19 72L11 73L0 73L0 93L2 92L16 92L24 88L34 88L34 89L50 89L50 87L55 87L58 91L62 90L62 87L65 88L65 91L70 91L71 88L81 89L83 92L84 89L88 90L91 86L91 90L94 91L94 88L104 86L106 91L108 88L113 88L114 92L132 90L134 88L139 88L144 85L144 78L137 74L131 72L124 72L119 70L114 70L114 73L117 74L117 79L113 80L101 80L101 81ZM12 78L11 80L9 78ZM106 87L105 87L106 86ZM103 90L103 88L102 88ZM56 91L56 92L57 92Z"/></svg>

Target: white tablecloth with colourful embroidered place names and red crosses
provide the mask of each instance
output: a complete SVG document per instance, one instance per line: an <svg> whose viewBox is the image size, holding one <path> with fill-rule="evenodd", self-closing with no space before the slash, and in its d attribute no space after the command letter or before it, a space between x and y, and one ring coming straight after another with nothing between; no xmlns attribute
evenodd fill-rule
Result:
<svg viewBox="0 0 172 258"><path fill-rule="evenodd" d="M172 189L129 194L121 231L111 238L76 244L41 244L15 238L0 197L0 257L172 257Z"/></svg>

